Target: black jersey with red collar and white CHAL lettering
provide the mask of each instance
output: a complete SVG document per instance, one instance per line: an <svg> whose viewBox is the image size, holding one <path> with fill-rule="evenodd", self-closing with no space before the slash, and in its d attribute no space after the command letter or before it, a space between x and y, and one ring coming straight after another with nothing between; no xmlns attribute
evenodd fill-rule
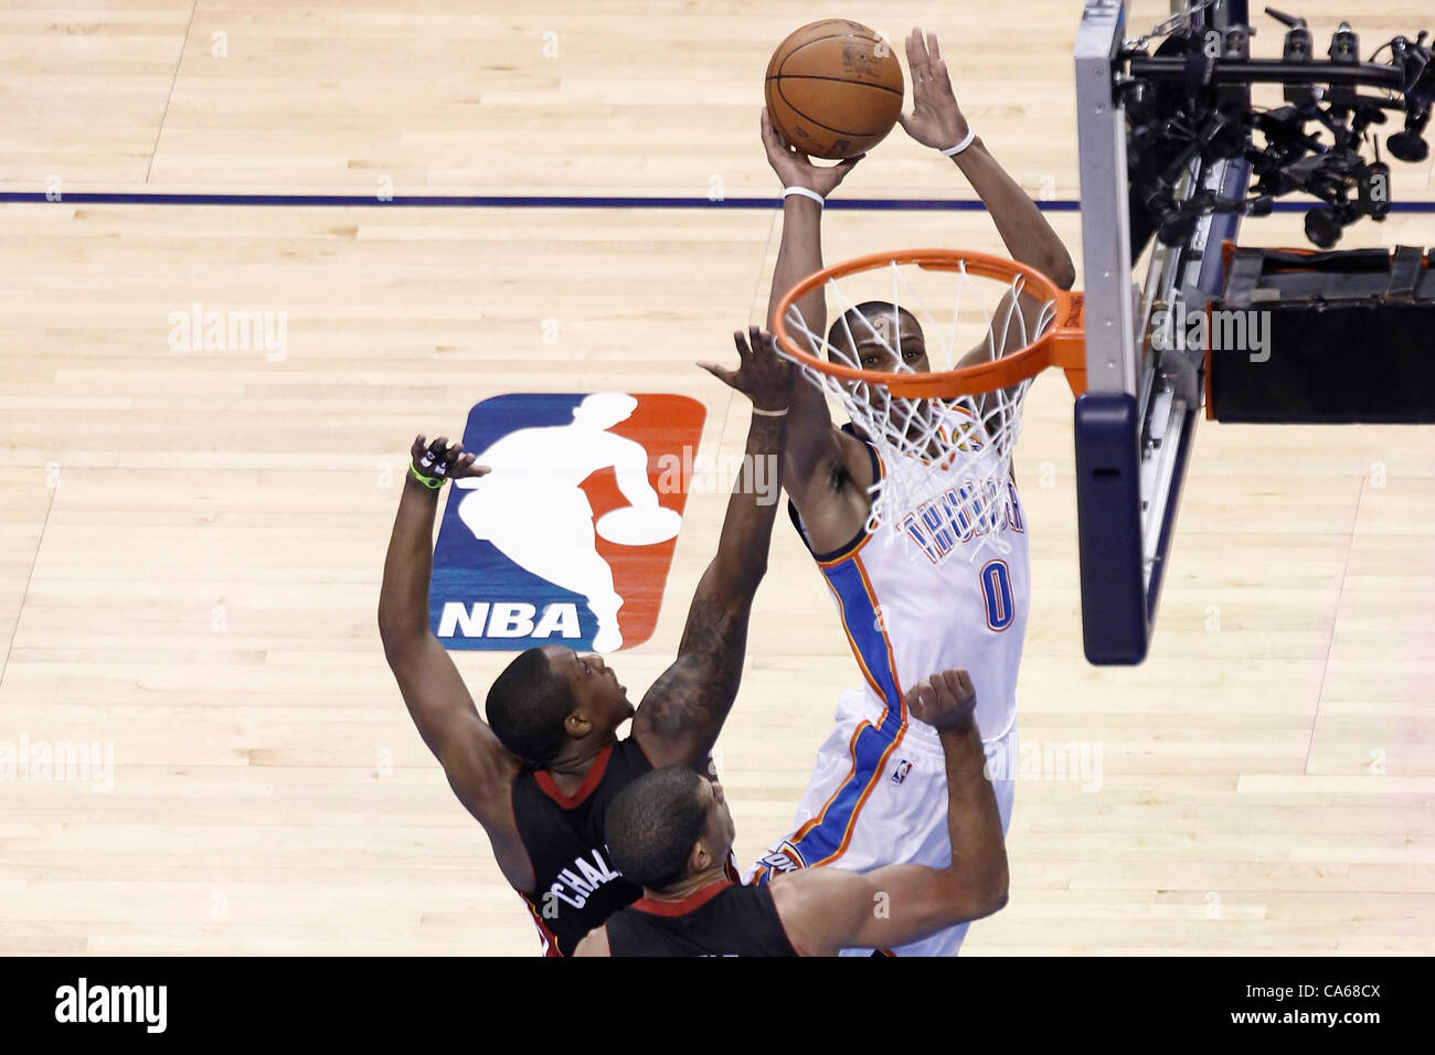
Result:
<svg viewBox="0 0 1435 1055"><path fill-rule="evenodd" d="M514 782L514 820L534 866L534 888L522 899L544 956L571 956L584 934L643 896L608 861L603 818L618 792L651 769L630 736L603 751L571 795L542 766L525 766Z"/></svg>

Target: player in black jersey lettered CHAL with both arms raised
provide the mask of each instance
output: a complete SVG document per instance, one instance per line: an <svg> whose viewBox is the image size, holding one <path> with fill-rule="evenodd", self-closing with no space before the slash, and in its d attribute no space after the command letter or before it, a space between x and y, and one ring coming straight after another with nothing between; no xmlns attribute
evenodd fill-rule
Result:
<svg viewBox="0 0 1435 1055"><path fill-rule="evenodd" d="M548 956L571 955L578 939L641 894L604 848L608 805L654 768L706 771L738 693L748 616L772 540L794 372L771 334L753 327L746 340L733 337L738 369L700 366L752 400L748 456L677 659L637 709L603 659L551 644L508 665L488 692L488 722L479 718L458 667L429 630L429 576L439 488L486 469L461 444L413 442L379 599L385 656L419 735L488 833ZM755 466L771 468L771 488L755 487ZM617 729L630 718L631 732L620 741Z"/></svg>

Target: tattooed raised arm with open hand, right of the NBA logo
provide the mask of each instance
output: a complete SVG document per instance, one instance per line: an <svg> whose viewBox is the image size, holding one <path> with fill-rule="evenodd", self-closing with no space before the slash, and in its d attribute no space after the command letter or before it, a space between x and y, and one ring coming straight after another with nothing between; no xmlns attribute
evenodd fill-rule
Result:
<svg viewBox="0 0 1435 1055"><path fill-rule="evenodd" d="M699 766L718 741L738 696L748 647L748 616L768 568L768 545L782 484L782 444L792 367L758 327L735 333L739 367L703 369L752 399L752 425L742 474L728 500L728 515L713 557L687 611L677 659L656 680L633 716L633 736L654 766ZM751 342L751 346L749 346ZM755 472L769 477L758 487Z"/></svg>

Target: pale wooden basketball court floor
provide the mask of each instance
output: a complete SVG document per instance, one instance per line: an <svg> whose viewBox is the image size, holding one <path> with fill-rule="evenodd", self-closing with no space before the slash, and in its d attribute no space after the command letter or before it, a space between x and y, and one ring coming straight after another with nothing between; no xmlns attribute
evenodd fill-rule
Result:
<svg viewBox="0 0 1435 1055"><path fill-rule="evenodd" d="M112 789L0 782L0 952L517 953L538 944L403 711L375 627L415 432L502 392L664 390L759 320L765 210L83 205L76 191L771 195L775 43L872 4L716 0L13 0L0 11L0 745L98 741ZM1141 0L1134 23L1165 4ZM1425 10L1422 10L1425 9ZM883 7L881 10L885 10ZM1073 200L1076 0L904 6L974 128ZM1428 23L1303 4L1322 50ZM482 11L482 13L479 13ZM1257 50L1280 36L1264 20ZM220 55L222 52L222 55ZM1435 198L1396 165L1399 200ZM898 131L850 197L970 197ZM1053 212L1079 261L1079 221ZM1247 241L1302 244L1279 215ZM999 250L980 212L837 212L829 258ZM1435 244L1431 214L1346 244ZM174 352L171 311L286 311L286 355ZM557 320L557 344L544 342ZM548 329L545 330L545 323ZM993 953L1435 952L1435 431L1204 423L1151 659L1081 652L1071 398L1017 451L1033 772ZM695 495L656 636L672 657L722 495ZM784 831L855 682L785 527L720 744L739 855ZM464 653L481 690L505 662ZM1096 754L1099 752L1099 754Z"/></svg>

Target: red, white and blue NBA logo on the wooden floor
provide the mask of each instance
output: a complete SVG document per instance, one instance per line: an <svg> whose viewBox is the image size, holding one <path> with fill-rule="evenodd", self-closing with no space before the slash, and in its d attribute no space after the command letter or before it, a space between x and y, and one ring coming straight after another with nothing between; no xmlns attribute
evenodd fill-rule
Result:
<svg viewBox="0 0 1435 1055"><path fill-rule="evenodd" d="M686 396L514 393L468 415L486 477L455 481L429 623L449 649L616 652L657 623L697 449Z"/></svg>

